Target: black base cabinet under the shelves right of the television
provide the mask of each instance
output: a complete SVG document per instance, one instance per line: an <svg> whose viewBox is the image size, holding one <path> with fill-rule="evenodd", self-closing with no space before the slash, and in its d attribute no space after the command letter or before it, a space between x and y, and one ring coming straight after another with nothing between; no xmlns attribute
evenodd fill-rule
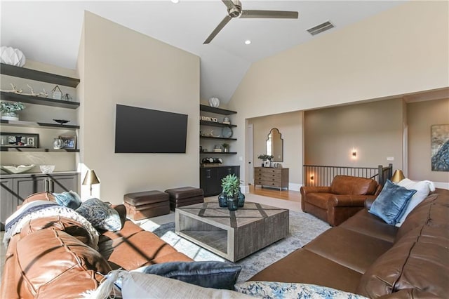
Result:
<svg viewBox="0 0 449 299"><path fill-rule="evenodd" d="M203 166L199 168L199 185L205 197L218 195L222 192L222 178L235 174L240 176L240 166Z"/></svg>

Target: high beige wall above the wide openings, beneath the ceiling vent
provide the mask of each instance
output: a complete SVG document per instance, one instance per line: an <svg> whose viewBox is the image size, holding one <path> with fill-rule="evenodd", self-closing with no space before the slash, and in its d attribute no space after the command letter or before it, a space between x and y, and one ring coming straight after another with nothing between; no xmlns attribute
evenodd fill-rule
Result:
<svg viewBox="0 0 449 299"><path fill-rule="evenodd" d="M239 112L234 133L243 138L253 117L447 87L448 5L409 1L255 62L229 102Z"/></svg>

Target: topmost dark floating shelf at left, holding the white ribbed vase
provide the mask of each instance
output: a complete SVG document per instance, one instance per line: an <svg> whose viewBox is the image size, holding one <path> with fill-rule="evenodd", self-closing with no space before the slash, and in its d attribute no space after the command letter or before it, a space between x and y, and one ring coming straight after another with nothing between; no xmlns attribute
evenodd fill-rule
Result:
<svg viewBox="0 0 449 299"><path fill-rule="evenodd" d="M27 69L26 67L15 67L14 65L6 65L4 63L0 64L0 74L69 87L76 87L79 84L79 79L76 78L41 72L36 69Z"/></svg>

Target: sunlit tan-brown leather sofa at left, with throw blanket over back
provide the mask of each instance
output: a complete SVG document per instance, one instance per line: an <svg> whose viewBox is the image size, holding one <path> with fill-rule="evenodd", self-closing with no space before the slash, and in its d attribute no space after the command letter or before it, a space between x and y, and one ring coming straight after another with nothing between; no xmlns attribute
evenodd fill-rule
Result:
<svg viewBox="0 0 449 299"><path fill-rule="evenodd" d="M34 200L54 199L42 192L25 202ZM9 241L0 298L81 298L80 293L97 288L103 274L111 270L192 261L126 220L123 205L114 208L122 228L100 232L98 250L80 222L59 216L29 220Z"/></svg>

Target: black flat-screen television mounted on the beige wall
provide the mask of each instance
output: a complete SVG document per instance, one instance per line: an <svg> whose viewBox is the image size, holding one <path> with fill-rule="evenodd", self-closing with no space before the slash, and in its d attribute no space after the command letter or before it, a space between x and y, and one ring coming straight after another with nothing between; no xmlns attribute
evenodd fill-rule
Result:
<svg viewBox="0 0 449 299"><path fill-rule="evenodd" d="M116 153L185 153L187 115L116 105Z"/></svg>

